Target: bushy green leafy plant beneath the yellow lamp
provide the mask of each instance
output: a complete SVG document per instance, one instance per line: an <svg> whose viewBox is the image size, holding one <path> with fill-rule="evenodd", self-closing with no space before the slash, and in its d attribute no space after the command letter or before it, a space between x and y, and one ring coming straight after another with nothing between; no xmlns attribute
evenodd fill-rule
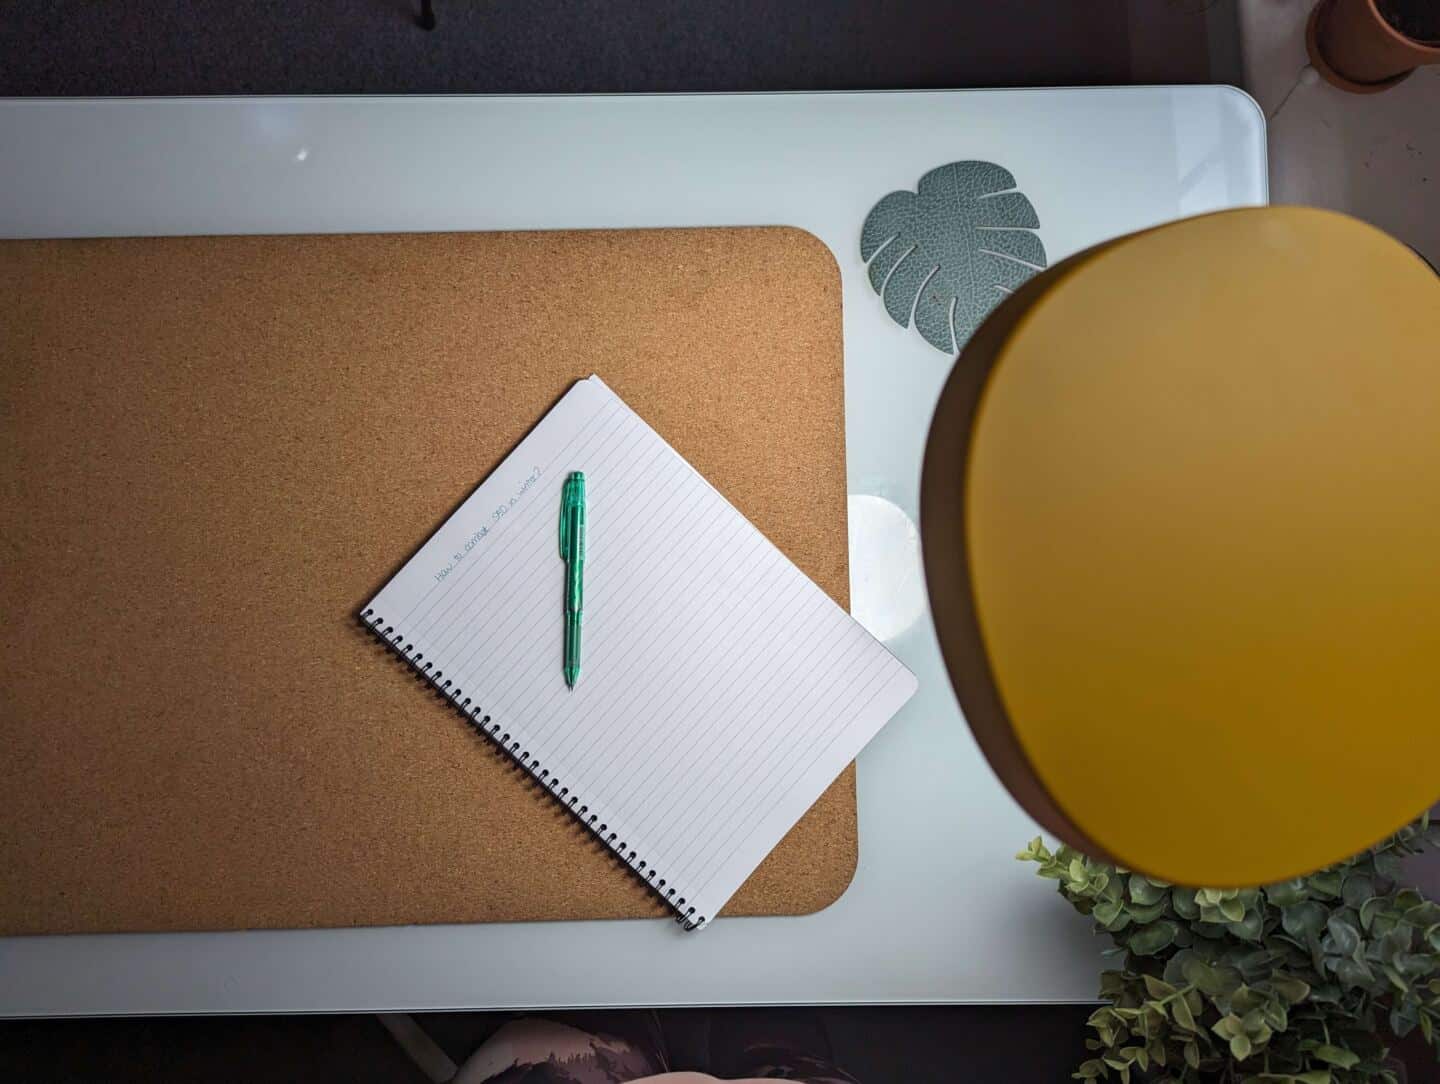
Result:
<svg viewBox="0 0 1440 1084"><path fill-rule="evenodd" d="M1077 1080L1352 1084L1397 1077L1387 1032L1440 1034L1440 904L1398 884L1428 818L1309 877L1179 888L1035 839L1017 855L1115 941Z"/></svg>

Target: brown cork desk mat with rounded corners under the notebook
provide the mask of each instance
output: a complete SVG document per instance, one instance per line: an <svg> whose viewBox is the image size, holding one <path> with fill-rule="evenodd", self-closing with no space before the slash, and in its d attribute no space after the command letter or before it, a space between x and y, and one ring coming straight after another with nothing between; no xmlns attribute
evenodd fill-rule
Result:
<svg viewBox="0 0 1440 1084"><path fill-rule="evenodd" d="M792 229L0 243L0 933L658 916L356 608L599 373L847 603ZM726 908L855 865L854 769Z"/></svg>

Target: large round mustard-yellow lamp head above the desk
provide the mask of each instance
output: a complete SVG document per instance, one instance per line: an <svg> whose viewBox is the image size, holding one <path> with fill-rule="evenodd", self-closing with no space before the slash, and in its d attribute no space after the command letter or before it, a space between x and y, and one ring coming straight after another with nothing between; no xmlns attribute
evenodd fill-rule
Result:
<svg viewBox="0 0 1440 1084"><path fill-rule="evenodd" d="M966 718L1067 842L1253 885L1440 795L1440 278L1384 233L1237 210L1040 274L920 518Z"/></svg>

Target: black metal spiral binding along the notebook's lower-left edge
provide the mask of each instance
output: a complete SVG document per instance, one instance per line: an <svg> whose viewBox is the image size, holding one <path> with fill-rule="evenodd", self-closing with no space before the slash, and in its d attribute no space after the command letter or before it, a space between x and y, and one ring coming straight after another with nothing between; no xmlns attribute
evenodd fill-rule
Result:
<svg viewBox="0 0 1440 1084"><path fill-rule="evenodd" d="M425 661L425 652L415 651L415 645L406 643L405 636L396 632L393 625L386 625L384 618L379 616L373 609L361 610L359 616L360 625L372 636L389 648L418 677L429 682L436 695L455 708L474 730L488 739L511 763L546 787L560 808L579 822L580 828L593 835L612 855L629 867L631 872L661 903L675 913L675 921L680 923L681 929L696 930L706 924L706 917L703 914L696 917L696 908L685 905L685 897L681 895L677 898L675 890L665 885L665 878L658 877L655 870L649 868L634 849L628 848L616 832L611 832L609 825L596 823L599 818L590 813L589 806L580 803L579 795L572 795L570 789L562 785L559 776L552 774L527 750L521 749L520 741L511 739L508 731L500 728L500 723L484 714L482 707L475 704L471 697L467 697L462 688L451 688L452 682L445 679L445 672L433 669L433 664Z"/></svg>

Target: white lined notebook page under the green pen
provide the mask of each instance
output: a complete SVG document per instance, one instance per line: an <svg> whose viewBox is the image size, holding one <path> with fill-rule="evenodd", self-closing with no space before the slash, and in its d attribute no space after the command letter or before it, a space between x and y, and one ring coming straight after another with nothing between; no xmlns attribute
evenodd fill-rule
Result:
<svg viewBox="0 0 1440 1084"><path fill-rule="evenodd" d="M560 488L588 491L582 675L562 675ZM916 679L599 377L363 610L677 911L704 926Z"/></svg>

